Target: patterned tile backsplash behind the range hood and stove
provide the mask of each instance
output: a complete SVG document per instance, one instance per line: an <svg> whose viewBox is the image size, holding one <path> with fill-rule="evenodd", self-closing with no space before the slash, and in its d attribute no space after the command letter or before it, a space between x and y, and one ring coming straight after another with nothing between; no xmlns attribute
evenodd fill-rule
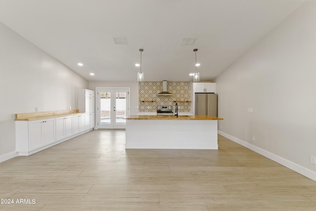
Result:
<svg viewBox="0 0 316 211"><path fill-rule="evenodd" d="M158 105L172 105L174 110L177 102L179 112L191 112L190 82L167 82L172 96L157 96L161 91L162 82L138 82L138 111L156 112Z"/></svg>

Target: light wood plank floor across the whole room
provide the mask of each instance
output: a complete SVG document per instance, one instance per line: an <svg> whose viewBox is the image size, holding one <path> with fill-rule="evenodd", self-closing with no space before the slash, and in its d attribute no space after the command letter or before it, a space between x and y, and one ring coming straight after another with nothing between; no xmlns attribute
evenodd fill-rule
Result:
<svg viewBox="0 0 316 211"><path fill-rule="evenodd" d="M158 134L161 135L162 134ZM1 211L316 211L316 182L222 136L219 150L125 150L94 130L0 163Z"/></svg>

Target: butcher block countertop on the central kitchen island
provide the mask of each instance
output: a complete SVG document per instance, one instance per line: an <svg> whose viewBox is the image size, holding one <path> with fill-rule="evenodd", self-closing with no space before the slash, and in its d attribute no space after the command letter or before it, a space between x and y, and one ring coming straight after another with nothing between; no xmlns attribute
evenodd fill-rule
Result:
<svg viewBox="0 0 316 211"><path fill-rule="evenodd" d="M125 120L223 120L222 118L205 116L205 115L179 115L178 117L173 115L131 115L124 117Z"/></svg>

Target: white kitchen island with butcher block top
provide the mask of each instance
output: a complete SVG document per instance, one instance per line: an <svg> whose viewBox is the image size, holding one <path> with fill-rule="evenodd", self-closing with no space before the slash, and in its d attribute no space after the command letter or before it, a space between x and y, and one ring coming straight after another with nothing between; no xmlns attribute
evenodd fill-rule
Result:
<svg viewBox="0 0 316 211"><path fill-rule="evenodd" d="M126 149L218 149L212 116L135 115L126 119Z"/></svg>

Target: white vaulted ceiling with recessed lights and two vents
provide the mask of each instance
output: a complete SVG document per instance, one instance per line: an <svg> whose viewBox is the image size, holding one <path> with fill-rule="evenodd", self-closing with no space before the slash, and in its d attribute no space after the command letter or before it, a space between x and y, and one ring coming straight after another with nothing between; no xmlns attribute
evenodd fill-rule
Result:
<svg viewBox="0 0 316 211"><path fill-rule="evenodd" d="M194 48L201 81L209 81L303 2L0 0L0 22L88 81L136 81L139 48L145 81L192 81ZM181 45L184 37L197 41Z"/></svg>

